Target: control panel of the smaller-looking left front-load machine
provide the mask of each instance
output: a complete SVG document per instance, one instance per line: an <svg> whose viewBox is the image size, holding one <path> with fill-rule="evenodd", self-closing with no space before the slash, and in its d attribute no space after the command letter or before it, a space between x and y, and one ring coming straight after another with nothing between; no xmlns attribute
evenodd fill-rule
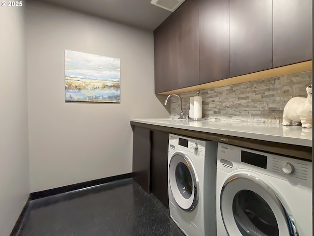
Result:
<svg viewBox="0 0 314 236"><path fill-rule="evenodd" d="M205 156L206 141L170 134L168 150L174 152L178 149Z"/></svg>

